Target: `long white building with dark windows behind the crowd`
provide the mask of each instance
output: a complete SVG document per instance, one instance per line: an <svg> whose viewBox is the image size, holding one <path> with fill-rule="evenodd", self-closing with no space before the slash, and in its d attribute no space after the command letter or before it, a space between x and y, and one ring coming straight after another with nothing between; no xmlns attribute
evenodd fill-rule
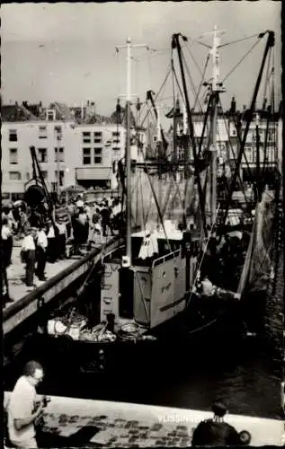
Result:
<svg viewBox="0 0 285 449"><path fill-rule="evenodd" d="M126 133L121 125L78 125L52 118L2 123L2 192L23 193L32 178L30 146L36 148L48 189L60 187L114 188L112 163L125 152ZM57 160L59 148L59 162Z"/></svg>

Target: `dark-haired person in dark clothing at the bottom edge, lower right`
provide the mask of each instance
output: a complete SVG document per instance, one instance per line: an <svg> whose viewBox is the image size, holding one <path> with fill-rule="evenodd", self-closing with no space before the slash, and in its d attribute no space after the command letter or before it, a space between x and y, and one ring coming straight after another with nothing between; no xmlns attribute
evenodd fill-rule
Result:
<svg viewBox="0 0 285 449"><path fill-rule="evenodd" d="M239 434L235 427L224 422L227 413L226 405L221 401L216 401L212 405L214 417L201 421L195 428L191 444L193 446L221 446L240 445Z"/></svg>

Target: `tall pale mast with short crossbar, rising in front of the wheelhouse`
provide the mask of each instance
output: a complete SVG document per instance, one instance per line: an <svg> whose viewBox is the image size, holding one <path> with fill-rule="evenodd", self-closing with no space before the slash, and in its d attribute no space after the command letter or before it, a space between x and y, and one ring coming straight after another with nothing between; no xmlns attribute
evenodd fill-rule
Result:
<svg viewBox="0 0 285 449"><path fill-rule="evenodd" d="M147 48L146 45L132 45L130 38L127 39L126 45L122 45L116 47L116 50L119 51L119 48L127 48L127 86L126 86L126 117L127 117L127 144L126 144L126 189L127 189L127 198L126 198L126 216L127 216L127 244L126 244L126 258L124 262L124 267L129 267L131 264L131 161L130 161L130 80L131 80L131 56L130 49L131 48ZM138 94L135 96L138 97Z"/></svg>

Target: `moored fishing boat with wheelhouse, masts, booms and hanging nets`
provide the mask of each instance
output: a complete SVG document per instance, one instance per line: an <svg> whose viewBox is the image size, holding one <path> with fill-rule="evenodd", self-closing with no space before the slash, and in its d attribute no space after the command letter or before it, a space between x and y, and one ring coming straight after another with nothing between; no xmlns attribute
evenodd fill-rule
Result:
<svg viewBox="0 0 285 449"><path fill-rule="evenodd" d="M57 354L60 348L63 364L67 366L67 356L72 360L71 365L79 369L104 372L106 360L115 360L107 365L115 367L135 366L134 359L144 360L146 357L159 363L160 357L171 357L171 351L177 352L188 341L201 344L205 338L209 346L210 337L215 335L217 348L218 337L224 341L230 337L234 341L234 335L245 334L243 322L243 307L241 301L248 279L249 261L253 250L253 239L256 238L259 227L256 220L259 216L255 211L253 233L243 256L235 260L234 269L229 273L224 267L222 275L217 274L218 244L224 234L243 233L245 228L240 223L227 223L231 210L231 198L236 186L236 180L240 169L240 163L245 150L245 142L253 119L257 93L261 84L263 68L268 52L274 44L274 33L268 31L260 35L268 36L263 54L263 62L260 73L254 87L254 96L245 120L245 130L238 135L240 139L240 151L236 157L236 166L230 179L227 201L223 208L220 207L217 197L217 119L219 93L223 92L223 86L219 82L219 31L213 32L213 45L210 54L213 57L213 76L208 85L209 103L205 113L200 144L197 148L197 138L191 119L191 108L188 98L185 74L183 70L182 47L180 40L187 40L181 34L174 34L172 50L177 49L180 62L181 77L183 81L184 121L187 132L183 136L185 158L183 163L177 162L174 146L174 159L168 163L165 156L165 142L159 120L157 120L157 141L164 150L158 159L158 177L156 181L148 171L147 163L142 164L145 177L143 181L143 195L146 199L152 194L153 206L156 211L153 215L158 217L158 224L153 225L151 220L143 218L143 199L141 198L140 231L133 231L134 206L132 167L130 159L130 40L127 40L127 145L125 156L126 185L123 191L126 193L126 233L123 241L118 239L118 247L113 251L102 251L102 263L100 266L101 293L100 301L94 297L94 292L89 289L89 313L78 313L82 310L80 299L65 304L60 311L58 308L52 316L49 316L46 330L41 334L41 340L49 340L52 344L52 354ZM158 118L156 110L156 118ZM204 133L209 120L208 150L201 151ZM174 140L177 145L176 129ZM186 145L185 145L186 143ZM190 149L193 154L190 159ZM198 151L197 151L198 150ZM163 156L161 155L163 154ZM174 201L170 201L171 195L165 195L165 204L170 203L173 215L165 220L163 208L162 180L165 185L174 186L174 190L181 196L182 188L177 187L177 173L179 167L183 167L183 207L180 214L176 213L174 219ZM139 168L138 168L139 170ZM148 182L148 191L145 186ZM155 188L155 184L157 189ZM255 196L256 210L263 198L265 185L258 184ZM191 193L191 199L190 195ZM174 199L174 195L173 198ZM191 214L192 226L187 223L186 209L190 206L194 210ZM137 198L137 204L140 204ZM219 213L219 212L222 212ZM194 217L194 218L193 218ZM245 227L248 228L248 225ZM253 236L254 235L254 236ZM229 235L230 237L230 235ZM236 237L236 235L234 235ZM237 239L238 240L238 239ZM216 263L217 262L217 263ZM233 267L233 265L232 265ZM225 282L225 272L231 281ZM98 290L97 290L97 294ZM97 299L97 319L94 319L94 302ZM79 304L79 305L78 305ZM91 304L91 306L90 306ZM241 307L242 304L242 307ZM67 308L65 308L67 305ZM99 311L98 311L99 305ZM66 313L67 310L67 314ZM64 311L64 312L63 312ZM90 312L91 311L91 312ZM40 345L41 346L41 345ZM42 348L42 347L41 347ZM141 352L139 349L141 349ZM166 356L167 357L167 356ZM147 365L147 364L145 364ZM68 364L68 369L70 363ZM127 368L128 369L128 368Z"/></svg>

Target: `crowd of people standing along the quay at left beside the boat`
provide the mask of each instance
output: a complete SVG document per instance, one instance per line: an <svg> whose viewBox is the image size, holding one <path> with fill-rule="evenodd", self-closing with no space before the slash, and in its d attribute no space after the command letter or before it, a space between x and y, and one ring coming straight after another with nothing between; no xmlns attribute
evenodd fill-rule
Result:
<svg viewBox="0 0 285 449"><path fill-rule="evenodd" d="M7 268L12 264L13 239L22 241L25 284L34 288L34 276L46 280L46 263L55 263L74 254L81 256L87 242L102 243L122 223L120 199L103 198L87 204L82 197L58 203L55 213L42 201L29 207L23 201L2 207L2 277L4 305L12 302ZM67 254L67 243L69 249Z"/></svg>

